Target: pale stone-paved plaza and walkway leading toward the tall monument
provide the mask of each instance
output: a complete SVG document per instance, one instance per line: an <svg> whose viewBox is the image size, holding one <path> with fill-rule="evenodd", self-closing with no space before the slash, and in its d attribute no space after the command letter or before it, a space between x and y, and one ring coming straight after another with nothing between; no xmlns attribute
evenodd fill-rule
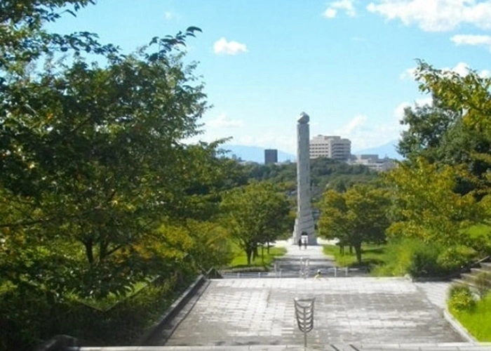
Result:
<svg viewBox="0 0 491 351"><path fill-rule="evenodd" d="M295 257L332 265L321 246L290 245L282 265L298 269ZM316 298L310 344L462 342L442 315L446 289L403 278L212 280L166 345L302 345L295 297Z"/></svg>

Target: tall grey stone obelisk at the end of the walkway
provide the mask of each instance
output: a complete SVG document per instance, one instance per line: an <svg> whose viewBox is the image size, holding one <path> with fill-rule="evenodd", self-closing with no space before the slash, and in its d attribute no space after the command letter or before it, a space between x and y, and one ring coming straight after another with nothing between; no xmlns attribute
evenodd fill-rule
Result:
<svg viewBox="0 0 491 351"><path fill-rule="evenodd" d="M310 152L309 152L309 121L305 112L300 114L297 121L297 218L293 230L293 244L297 244L302 233L309 236L309 245L316 245L314 218L311 210L310 194Z"/></svg>

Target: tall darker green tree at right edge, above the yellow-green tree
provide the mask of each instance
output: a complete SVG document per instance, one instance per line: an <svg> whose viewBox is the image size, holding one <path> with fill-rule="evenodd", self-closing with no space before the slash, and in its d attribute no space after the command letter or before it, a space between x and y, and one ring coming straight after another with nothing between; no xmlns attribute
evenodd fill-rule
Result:
<svg viewBox="0 0 491 351"><path fill-rule="evenodd" d="M431 94L432 104L405 110L401 123L408 130L401 135L399 152L410 161L424 157L438 164L464 165L479 183L460 182L456 190L461 194L473 190L487 193L491 79L473 70L461 76L435 69L424 61L419 61L416 78L419 90Z"/></svg>

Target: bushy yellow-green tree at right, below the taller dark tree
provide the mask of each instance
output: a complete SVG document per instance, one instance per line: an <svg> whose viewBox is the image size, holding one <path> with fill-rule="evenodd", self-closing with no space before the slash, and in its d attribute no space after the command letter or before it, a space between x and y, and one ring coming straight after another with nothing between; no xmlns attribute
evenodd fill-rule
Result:
<svg viewBox="0 0 491 351"><path fill-rule="evenodd" d="M459 181L471 178L462 166L417 159L415 164L400 164L385 177L395 208L390 234L447 246L464 244L462 229L482 217L483 206L472 193L455 192Z"/></svg>

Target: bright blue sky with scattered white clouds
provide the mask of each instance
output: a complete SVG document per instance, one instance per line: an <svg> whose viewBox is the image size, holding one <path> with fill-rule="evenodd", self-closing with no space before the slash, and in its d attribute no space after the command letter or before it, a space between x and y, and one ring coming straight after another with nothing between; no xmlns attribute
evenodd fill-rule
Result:
<svg viewBox="0 0 491 351"><path fill-rule="evenodd" d="M129 52L191 25L203 30L187 60L199 61L213 105L207 141L295 153L304 111L311 135L375 147L398 138L404 106L424 102L415 59L462 74L491 69L491 1L98 0L52 27Z"/></svg>

